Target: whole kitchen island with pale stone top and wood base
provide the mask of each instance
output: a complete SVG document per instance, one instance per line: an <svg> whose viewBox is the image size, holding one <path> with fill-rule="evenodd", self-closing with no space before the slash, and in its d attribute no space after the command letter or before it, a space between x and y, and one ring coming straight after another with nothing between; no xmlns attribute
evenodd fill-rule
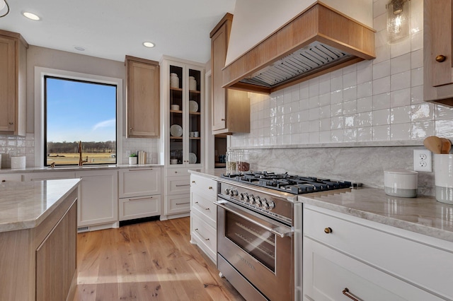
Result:
<svg viewBox="0 0 453 301"><path fill-rule="evenodd" d="M79 182L0 184L0 300L71 300Z"/></svg>

